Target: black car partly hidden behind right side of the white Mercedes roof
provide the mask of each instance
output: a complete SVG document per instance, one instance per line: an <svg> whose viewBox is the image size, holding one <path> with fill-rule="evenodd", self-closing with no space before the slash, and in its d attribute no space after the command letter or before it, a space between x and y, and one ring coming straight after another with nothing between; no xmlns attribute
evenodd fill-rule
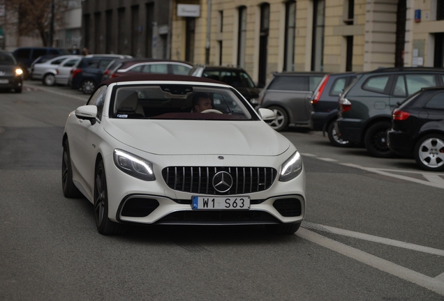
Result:
<svg viewBox="0 0 444 301"><path fill-rule="evenodd" d="M251 79L250 75L242 67L232 65L195 65L193 69L190 70L189 75L216 79L225 84L229 84L236 88L253 107L258 105L261 89L254 84L253 79Z"/></svg>

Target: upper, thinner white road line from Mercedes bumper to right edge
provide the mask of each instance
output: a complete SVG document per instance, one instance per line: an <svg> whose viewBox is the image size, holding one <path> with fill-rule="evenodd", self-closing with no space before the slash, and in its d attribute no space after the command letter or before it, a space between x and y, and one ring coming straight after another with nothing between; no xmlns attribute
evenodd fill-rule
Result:
<svg viewBox="0 0 444 301"><path fill-rule="evenodd" d="M384 245L391 245L394 247L401 247L404 249L410 249L413 251L419 251L419 252L423 252L423 253L428 253L428 254L433 254L433 255L439 255L439 256L444 256L444 250L441 249L435 249L432 247L424 247L421 245L415 245L415 244L411 244L408 242L401 242L399 240L392 240L390 238L381 238L378 236L372 236L369 234L364 234L364 233L359 233L359 232L354 232L354 231L349 231L349 230L344 230L344 229L339 229L339 228L334 228L332 226L324 226L321 224L314 224L314 223L308 223L308 225L313 224L313 226L315 227L314 229L318 229L320 231L325 231L325 232L330 232L330 233L334 233L340 236L347 236L350 238L358 238L361 240L367 240L367 241L371 241L371 242L378 242L378 243L382 243Z"/></svg>

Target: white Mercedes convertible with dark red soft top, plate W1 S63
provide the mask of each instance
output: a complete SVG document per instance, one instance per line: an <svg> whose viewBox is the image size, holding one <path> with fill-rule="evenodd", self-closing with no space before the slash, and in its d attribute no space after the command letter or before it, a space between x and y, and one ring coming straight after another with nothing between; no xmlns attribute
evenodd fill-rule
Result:
<svg viewBox="0 0 444 301"><path fill-rule="evenodd" d="M213 109L192 112L199 98ZM94 204L102 234L128 223L264 224L295 233L305 215L305 171L297 148L264 122L273 118L212 79L108 79L68 116L64 195L81 192Z"/></svg>

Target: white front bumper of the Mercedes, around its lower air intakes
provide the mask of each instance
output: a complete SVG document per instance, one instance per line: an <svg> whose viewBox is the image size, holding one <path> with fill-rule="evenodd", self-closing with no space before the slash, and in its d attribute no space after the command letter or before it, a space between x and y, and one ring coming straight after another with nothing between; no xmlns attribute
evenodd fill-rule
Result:
<svg viewBox="0 0 444 301"><path fill-rule="evenodd" d="M174 156L170 157L168 164L171 166L183 164L183 162L175 164L174 159ZM199 159L202 160L195 158L196 161ZM193 158L188 161L193 161ZM253 166L258 166L258 163L252 163ZM193 210L192 196L208 196L208 194L171 189L161 176L162 167L156 165L154 172L158 176L154 181L139 180L123 173L115 167L112 155L105 157L105 170L108 181L108 217L113 222L194 225L281 224L302 222L305 216L304 168L299 176L288 182L280 182L279 175L276 176L268 190L233 194L250 196L249 210Z"/></svg>

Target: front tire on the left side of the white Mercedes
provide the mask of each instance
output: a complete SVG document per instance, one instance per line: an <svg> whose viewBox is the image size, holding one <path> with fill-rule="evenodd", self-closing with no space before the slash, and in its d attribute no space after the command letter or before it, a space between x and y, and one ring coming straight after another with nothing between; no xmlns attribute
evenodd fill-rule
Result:
<svg viewBox="0 0 444 301"><path fill-rule="evenodd" d="M103 161L96 167L94 180L94 218L98 233L114 235L126 232L126 225L112 222L108 218L108 186L106 185Z"/></svg>

